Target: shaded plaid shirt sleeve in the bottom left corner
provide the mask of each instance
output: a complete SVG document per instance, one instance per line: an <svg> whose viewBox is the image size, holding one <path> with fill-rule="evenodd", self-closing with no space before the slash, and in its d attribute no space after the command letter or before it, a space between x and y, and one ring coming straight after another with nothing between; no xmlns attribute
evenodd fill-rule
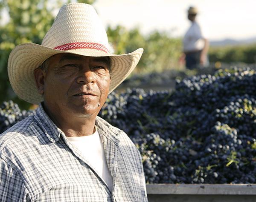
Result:
<svg viewBox="0 0 256 202"><path fill-rule="evenodd" d="M0 201L32 201L20 175L0 157Z"/></svg>

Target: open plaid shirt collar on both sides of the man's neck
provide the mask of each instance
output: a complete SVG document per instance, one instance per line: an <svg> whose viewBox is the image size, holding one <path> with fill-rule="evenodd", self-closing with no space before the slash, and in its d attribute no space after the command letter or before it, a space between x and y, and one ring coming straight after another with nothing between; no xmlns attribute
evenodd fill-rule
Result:
<svg viewBox="0 0 256 202"><path fill-rule="evenodd" d="M61 131L61 129L58 128L57 125L55 125L55 123L46 114L42 103L40 103L39 107L36 110L35 120L36 122L38 122L38 125L42 128L50 142L57 142L61 134L65 136L64 132ZM118 128L113 127L100 117L96 117L95 125L100 136L104 135L114 144L118 145L118 134L120 133L120 130Z"/></svg>

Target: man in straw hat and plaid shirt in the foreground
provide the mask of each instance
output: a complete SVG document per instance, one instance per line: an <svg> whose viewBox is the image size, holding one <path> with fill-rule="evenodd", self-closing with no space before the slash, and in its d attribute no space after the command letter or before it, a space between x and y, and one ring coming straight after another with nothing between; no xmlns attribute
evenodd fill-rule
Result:
<svg viewBox="0 0 256 202"><path fill-rule="evenodd" d="M0 135L0 201L147 201L140 153L97 117L142 52L111 54L96 11L83 3L60 9L42 45L13 49L12 88L39 108Z"/></svg>

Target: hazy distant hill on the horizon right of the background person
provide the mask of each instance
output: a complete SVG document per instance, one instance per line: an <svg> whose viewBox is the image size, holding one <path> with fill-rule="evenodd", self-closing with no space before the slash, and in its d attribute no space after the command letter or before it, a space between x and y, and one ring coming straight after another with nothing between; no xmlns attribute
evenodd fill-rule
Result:
<svg viewBox="0 0 256 202"><path fill-rule="evenodd" d="M244 40L224 39L224 40L210 40L210 46L234 46L234 45L247 45L256 43L256 37Z"/></svg>

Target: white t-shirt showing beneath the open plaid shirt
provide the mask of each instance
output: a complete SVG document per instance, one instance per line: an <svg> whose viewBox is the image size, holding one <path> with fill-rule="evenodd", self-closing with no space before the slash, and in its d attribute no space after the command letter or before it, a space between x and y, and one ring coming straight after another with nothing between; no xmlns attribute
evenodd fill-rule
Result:
<svg viewBox="0 0 256 202"><path fill-rule="evenodd" d="M95 133L82 137L67 137L68 141L78 148L90 165L104 179L112 191L113 178L108 169L102 141L95 126Z"/></svg>

